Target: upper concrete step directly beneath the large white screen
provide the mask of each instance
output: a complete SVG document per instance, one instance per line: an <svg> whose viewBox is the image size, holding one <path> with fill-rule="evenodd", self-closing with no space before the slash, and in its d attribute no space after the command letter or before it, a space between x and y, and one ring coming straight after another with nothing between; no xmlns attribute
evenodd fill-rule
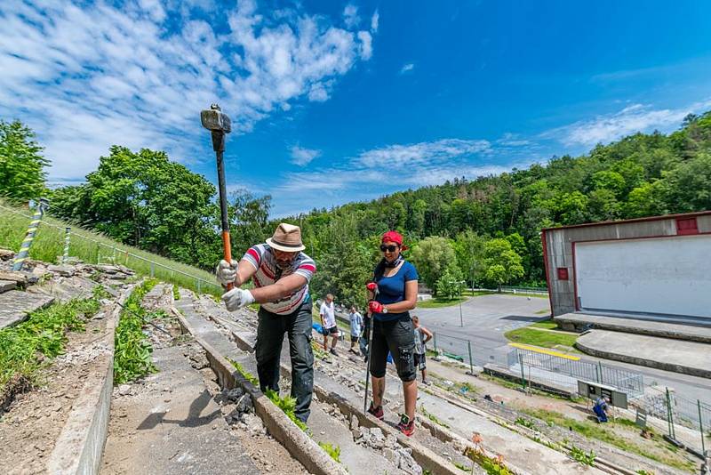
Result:
<svg viewBox="0 0 711 475"><path fill-rule="evenodd" d="M565 330L582 331L588 328L611 330L629 334L648 334L689 342L711 343L711 326L688 325L667 321L632 317L612 317L589 313L566 313L554 318Z"/></svg>

